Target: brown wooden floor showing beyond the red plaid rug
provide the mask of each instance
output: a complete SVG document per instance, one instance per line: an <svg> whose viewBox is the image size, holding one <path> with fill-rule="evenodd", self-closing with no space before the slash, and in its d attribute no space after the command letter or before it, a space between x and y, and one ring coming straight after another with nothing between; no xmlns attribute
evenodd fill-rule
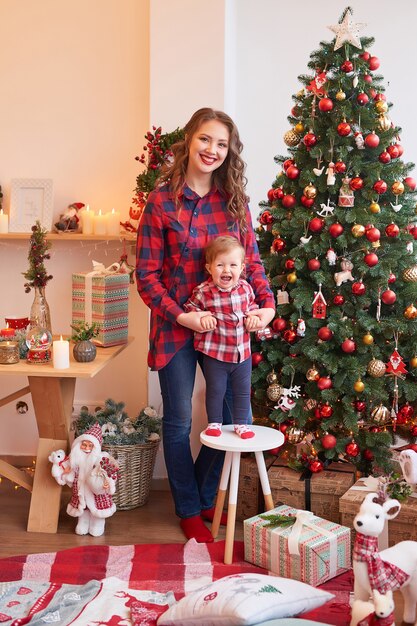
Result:
<svg viewBox="0 0 417 626"><path fill-rule="evenodd" d="M169 491L151 491L147 504L130 511L117 511L106 521L102 537L75 534L75 518L65 512L69 492L63 494L63 507L58 532L28 533L26 531L30 493L3 479L0 483L0 558L36 552L56 552L66 548L85 545L126 545L137 543L184 543L185 538L174 513ZM218 539L225 538L225 529L220 528ZM236 540L243 540L242 522L236 522ZM401 625L402 597L395 592L396 624Z"/></svg>

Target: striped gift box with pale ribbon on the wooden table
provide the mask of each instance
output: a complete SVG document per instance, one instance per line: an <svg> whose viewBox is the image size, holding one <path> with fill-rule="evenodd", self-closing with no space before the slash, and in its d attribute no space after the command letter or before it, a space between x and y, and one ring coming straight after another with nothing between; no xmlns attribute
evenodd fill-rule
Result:
<svg viewBox="0 0 417 626"><path fill-rule="evenodd" d="M72 323L96 322L99 346L128 340L129 274L85 272L72 275Z"/></svg>

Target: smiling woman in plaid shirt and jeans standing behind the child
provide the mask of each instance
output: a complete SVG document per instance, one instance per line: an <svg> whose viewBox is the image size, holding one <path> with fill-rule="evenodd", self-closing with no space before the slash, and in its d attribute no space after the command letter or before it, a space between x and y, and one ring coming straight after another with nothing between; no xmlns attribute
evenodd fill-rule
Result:
<svg viewBox="0 0 417 626"><path fill-rule="evenodd" d="M231 118L210 108L194 113L185 139L172 147L157 188L149 194L138 228L138 291L151 309L148 365L158 370L163 400L163 446L176 514L187 539L213 541L203 522L213 519L223 462L202 447L190 449L191 399L197 362L193 331L205 332L205 311L184 312L194 287L205 278L203 250L219 235L232 235L245 249L246 277L259 309L259 328L274 317L273 294L259 258L247 196L242 143ZM225 402L223 423L231 422Z"/></svg>

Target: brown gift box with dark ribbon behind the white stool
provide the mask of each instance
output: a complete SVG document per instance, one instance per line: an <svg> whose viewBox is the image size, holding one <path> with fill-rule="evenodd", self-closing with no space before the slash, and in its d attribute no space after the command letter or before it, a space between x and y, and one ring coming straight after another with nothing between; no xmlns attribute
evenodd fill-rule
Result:
<svg viewBox="0 0 417 626"><path fill-rule="evenodd" d="M308 509L331 522L340 522L339 498L355 482L355 469L350 463L332 463L326 470L300 474L274 463L268 469L274 504L287 504L296 509ZM262 490L254 458L242 459L236 517L246 519L263 508Z"/></svg>

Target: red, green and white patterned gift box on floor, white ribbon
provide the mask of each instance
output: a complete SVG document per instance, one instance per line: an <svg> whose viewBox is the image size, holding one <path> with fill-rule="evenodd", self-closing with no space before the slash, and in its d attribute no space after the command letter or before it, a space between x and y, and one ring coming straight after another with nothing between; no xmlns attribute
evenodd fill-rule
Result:
<svg viewBox="0 0 417 626"><path fill-rule="evenodd" d="M285 505L263 515L276 514L296 516L297 521L287 527L271 527L259 515L244 521L246 561L313 586L350 568L349 528Z"/></svg>

